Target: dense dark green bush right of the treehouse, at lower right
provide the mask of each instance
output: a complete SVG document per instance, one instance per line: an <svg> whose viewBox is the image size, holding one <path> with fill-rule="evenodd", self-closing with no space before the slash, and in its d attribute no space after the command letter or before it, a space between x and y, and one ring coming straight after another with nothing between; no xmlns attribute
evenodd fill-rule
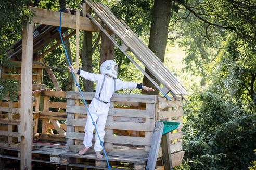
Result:
<svg viewBox="0 0 256 170"><path fill-rule="evenodd" d="M224 101L211 90L199 89L184 106L183 167L247 169L256 159L255 113Z"/></svg>

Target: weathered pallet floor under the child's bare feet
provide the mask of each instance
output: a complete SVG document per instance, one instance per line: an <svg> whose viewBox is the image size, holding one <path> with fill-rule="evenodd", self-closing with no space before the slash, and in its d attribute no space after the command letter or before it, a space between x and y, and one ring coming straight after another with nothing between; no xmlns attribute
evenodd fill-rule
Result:
<svg viewBox="0 0 256 170"><path fill-rule="evenodd" d="M0 158L20 160L20 150L3 148ZM124 158L108 155L111 169L145 169L147 159ZM33 142L32 162L56 164L69 167L80 167L82 169L108 169L105 157L97 159L95 154L88 153L79 155L77 152L65 150L65 143L53 143L47 141Z"/></svg>

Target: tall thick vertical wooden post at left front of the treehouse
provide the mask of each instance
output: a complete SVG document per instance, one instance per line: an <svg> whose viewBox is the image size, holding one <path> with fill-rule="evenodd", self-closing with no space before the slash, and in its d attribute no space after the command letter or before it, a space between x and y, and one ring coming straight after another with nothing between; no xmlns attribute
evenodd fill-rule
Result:
<svg viewBox="0 0 256 170"><path fill-rule="evenodd" d="M21 61L21 149L20 169L31 169L32 148L32 59L33 59L33 19L23 26Z"/></svg>

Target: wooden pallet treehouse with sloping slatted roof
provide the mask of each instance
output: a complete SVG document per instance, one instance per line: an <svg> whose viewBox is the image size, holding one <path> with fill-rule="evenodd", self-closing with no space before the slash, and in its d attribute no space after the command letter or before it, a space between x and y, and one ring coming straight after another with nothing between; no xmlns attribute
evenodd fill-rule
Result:
<svg viewBox="0 0 256 170"><path fill-rule="evenodd" d="M42 60L61 44L56 29L60 20L62 32L75 29L67 36L62 35L63 40L78 35L79 30L102 32L165 96L113 95L104 137L111 169L155 169L159 166L171 169L180 165L184 155L182 106L183 96L188 95L186 89L134 32L111 13L108 6L86 0L81 8L82 13L66 8L66 13L63 11L60 16L57 11L30 7L35 16L24 26L22 39L13 45L12 51L8 51L16 62L15 74L9 74L14 70L1 68L2 80L15 78L19 81L20 95L18 101L11 101L8 97L0 101L0 169L11 167L15 160L20 160L21 169L31 169L36 162L45 166L54 164L60 169L108 169L106 159L96 159L93 149L85 155L77 154L83 148L87 109L81 103L80 92L77 89L62 91L49 64ZM34 28L34 23L39 25ZM121 46L113 35L122 41ZM76 42L79 42L78 38L76 36ZM56 45L39 54L53 40L57 41ZM76 49L78 65L79 48ZM163 88L140 68L127 51L145 65ZM47 70L57 91L41 84L43 69ZM94 94L83 92L86 101L92 100ZM54 102L54 98L63 100ZM50 111L52 108L56 111ZM159 121L179 124L176 130L162 135L165 125Z"/></svg>

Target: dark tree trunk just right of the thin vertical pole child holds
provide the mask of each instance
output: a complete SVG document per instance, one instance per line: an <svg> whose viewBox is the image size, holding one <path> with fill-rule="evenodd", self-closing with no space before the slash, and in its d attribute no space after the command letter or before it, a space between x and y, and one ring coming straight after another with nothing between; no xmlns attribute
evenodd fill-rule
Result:
<svg viewBox="0 0 256 170"><path fill-rule="evenodd" d="M81 50L82 70L93 73L93 48L92 48L92 32L84 31L83 47ZM94 84L92 81L83 79L84 91L93 92Z"/></svg>

